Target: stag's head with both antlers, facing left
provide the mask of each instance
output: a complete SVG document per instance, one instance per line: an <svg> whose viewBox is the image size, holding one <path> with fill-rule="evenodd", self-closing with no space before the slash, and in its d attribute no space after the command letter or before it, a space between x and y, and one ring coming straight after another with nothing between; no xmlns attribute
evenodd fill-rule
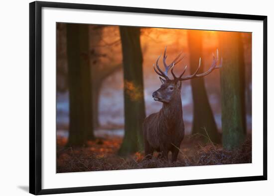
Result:
<svg viewBox="0 0 274 196"><path fill-rule="evenodd" d="M173 68L174 68L174 65L178 64L183 59L183 57L181 57L181 54L179 54L171 64L167 65L166 62L165 62L166 58L167 58L166 48L165 48L164 54L163 54L163 65L164 65L165 71L162 71L160 69L159 65L158 65L158 61L159 61L161 56L159 56L158 59L156 60L157 69L155 68L155 66L153 64L153 69L160 76L159 78L160 78L160 81L162 83L160 88L152 93L152 97L154 98L154 100L155 101L160 101L160 102L163 102L163 103L169 103L173 99L173 97L175 97L177 95L180 95L180 93L181 93L181 82L182 81L206 76L209 73L211 73L214 69L222 67L222 61L223 61L222 58L221 58L220 64L217 65L217 63L219 61L218 60L218 49L217 49L216 53L217 53L216 58L213 55L212 64L211 64L210 68L207 71L198 74L198 71L201 67L201 58L200 58L198 68L196 69L196 71L192 75L183 76L183 74L185 73L186 68L187 68L187 66L185 66L183 72L180 74L179 77L177 77L173 72ZM169 77L167 75L167 73L170 69L171 69L171 74L173 76L173 79L169 79Z"/></svg>

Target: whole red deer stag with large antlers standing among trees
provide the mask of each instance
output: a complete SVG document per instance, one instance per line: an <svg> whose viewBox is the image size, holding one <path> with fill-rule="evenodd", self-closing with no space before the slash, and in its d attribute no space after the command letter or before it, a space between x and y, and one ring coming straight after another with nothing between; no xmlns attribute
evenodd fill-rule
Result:
<svg viewBox="0 0 274 196"><path fill-rule="evenodd" d="M213 55L213 62L210 68L198 74L201 66L201 58L197 70L189 76L183 76L186 67L179 77L173 72L174 65L179 63L182 59L181 54L175 60L166 65L166 48L163 54L163 65L165 71L162 71L158 65L160 56L156 60L156 67L153 64L154 71L160 76L162 85L159 89L152 93L155 101L162 102L162 108L159 112L149 115L143 122L143 137L144 137L144 151L145 157L150 159L155 151L160 152L164 159L168 160L168 152L172 152L172 162L177 160L181 141L184 138L184 122L181 101L181 81L203 77L211 73L214 69L222 66L222 59L220 65L218 63L218 49L216 58ZM173 79L169 79L167 72L171 69Z"/></svg>

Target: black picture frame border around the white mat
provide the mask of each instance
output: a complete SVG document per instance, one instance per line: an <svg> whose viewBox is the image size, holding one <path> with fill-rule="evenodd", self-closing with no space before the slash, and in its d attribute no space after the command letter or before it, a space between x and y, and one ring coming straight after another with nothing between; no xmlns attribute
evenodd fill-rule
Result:
<svg viewBox="0 0 274 196"><path fill-rule="evenodd" d="M85 10L103 10L103 11L119 11L134 13L153 13L166 15L181 16L200 16L212 18L230 18L230 19L246 19L263 21L263 175L235 178L217 178L205 180L186 180L172 182L154 182L139 184L123 184L108 186L91 186L91 187L71 187L60 189L42 189L41 187L41 116L42 116L42 97L41 97L41 9L42 7L55 8L73 8ZM229 183L244 181L267 180L267 16L262 15L245 15L230 13L213 13L201 11L182 11L169 9L154 9L141 7L124 7L124 6L108 6L93 4L76 4L61 2L44 2L34 1L29 4L29 193L34 195L44 194L61 194L76 192L92 192L92 191L108 191L121 189L138 189L138 188L154 188L182 185L199 185L213 183Z"/></svg>

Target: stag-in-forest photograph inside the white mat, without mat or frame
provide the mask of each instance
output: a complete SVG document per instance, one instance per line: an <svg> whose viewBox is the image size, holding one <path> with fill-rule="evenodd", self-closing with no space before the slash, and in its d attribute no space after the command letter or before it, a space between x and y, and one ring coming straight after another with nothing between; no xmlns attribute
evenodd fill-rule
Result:
<svg viewBox="0 0 274 196"><path fill-rule="evenodd" d="M56 173L252 164L252 35L56 22Z"/></svg>

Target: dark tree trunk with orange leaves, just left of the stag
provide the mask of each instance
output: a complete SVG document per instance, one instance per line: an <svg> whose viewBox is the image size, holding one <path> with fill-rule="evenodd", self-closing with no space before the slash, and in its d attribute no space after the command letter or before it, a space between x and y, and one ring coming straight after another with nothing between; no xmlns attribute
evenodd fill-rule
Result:
<svg viewBox="0 0 274 196"><path fill-rule="evenodd" d="M140 29L121 26L120 35L124 65L125 136L119 154L128 155L143 150L145 110Z"/></svg>

